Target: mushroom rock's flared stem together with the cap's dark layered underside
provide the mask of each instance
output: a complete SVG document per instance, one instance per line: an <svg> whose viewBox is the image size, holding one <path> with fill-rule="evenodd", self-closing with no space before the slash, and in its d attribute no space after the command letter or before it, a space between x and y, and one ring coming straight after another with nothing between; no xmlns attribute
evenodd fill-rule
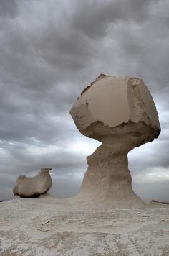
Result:
<svg viewBox="0 0 169 256"><path fill-rule="evenodd" d="M98 122L90 127L102 145L87 157L88 168L79 194L74 197L79 205L105 208L140 208L146 204L132 191L132 178L128 170L127 153L143 142L143 136L154 130L143 122L123 124L107 129ZM102 129L102 132L100 130ZM137 129L137 132L136 132ZM152 129L152 130L151 130ZM156 131L155 131L156 132ZM143 135L144 134L144 135ZM154 134L153 134L154 136Z"/></svg>

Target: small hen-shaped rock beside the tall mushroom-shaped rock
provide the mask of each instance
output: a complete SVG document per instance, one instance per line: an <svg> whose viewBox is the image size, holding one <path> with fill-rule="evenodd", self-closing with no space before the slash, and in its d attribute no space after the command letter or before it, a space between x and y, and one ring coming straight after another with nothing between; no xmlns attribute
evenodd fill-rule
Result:
<svg viewBox="0 0 169 256"><path fill-rule="evenodd" d="M33 178L20 175L13 189L14 196L37 198L41 194L47 193L52 186L50 170L52 168L41 168L40 173Z"/></svg>

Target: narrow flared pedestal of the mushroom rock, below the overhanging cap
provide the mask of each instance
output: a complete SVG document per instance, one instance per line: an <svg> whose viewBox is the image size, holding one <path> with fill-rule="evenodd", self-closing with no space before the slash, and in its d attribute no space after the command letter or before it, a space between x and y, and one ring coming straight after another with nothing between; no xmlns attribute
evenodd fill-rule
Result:
<svg viewBox="0 0 169 256"><path fill-rule="evenodd" d="M132 143L120 137L105 137L102 145L87 157L88 168L77 200L79 204L107 207L143 207L132 191L127 153Z"/></svg>

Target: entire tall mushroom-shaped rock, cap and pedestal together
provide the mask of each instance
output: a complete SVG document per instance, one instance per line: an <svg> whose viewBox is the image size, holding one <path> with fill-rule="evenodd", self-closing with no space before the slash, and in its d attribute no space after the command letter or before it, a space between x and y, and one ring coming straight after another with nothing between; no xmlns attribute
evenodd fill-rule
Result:
<svg viewBox="0 0 169 256"><path fill-rule="evenodd" d="M101 74L82 91L70 114L79 132L102 142L87 157L87 172L76 196L79 204L144 206L132 191L127 153L160 134L158 113L145 83Z"/></svg>

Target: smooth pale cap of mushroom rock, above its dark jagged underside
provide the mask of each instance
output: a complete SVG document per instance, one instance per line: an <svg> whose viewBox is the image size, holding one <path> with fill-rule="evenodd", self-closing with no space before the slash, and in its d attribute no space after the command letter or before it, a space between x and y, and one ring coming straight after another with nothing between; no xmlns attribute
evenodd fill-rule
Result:
<svg viewBox="0 0 169 256"><path fill-rule="evenodd" d="M79 131L87 137L97 138L95 129L89 133L89 127L99 122L107 129L143 122L153 129L153 137L160 134L153 98L140 78L101 74L82 91L70 114Z"/></svg>

